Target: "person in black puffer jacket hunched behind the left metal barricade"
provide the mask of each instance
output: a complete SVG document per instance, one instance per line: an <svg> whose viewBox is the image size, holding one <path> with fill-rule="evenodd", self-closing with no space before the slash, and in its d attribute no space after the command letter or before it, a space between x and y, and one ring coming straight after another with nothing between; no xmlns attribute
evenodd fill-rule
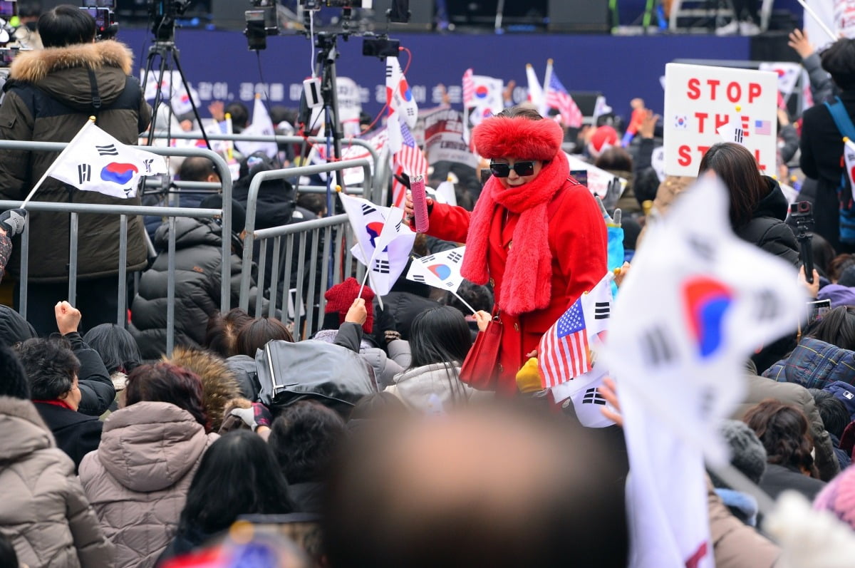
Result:
<svg viewBox="0 0 855 568"><path fill-rule="evenodd" d="M217 203L219 199L219 203ZM219 195L205 198L203 207L219 209ZM243 230L245 213L232 204L232 228ZM166 352L166 311L168 282L169 225L157 229L155 246L160 253L151 268L139 280L139 292L131 307L131 334L139 345L142 358L160 358ZM238 303L242 247L238 234L232 239L232 305ZM175 345L201 348L209 317L220 310L220 263L222 227L213 219L177 218L175 220ZM255 308L258 292L251 284L250 307ZM268 310L267 300L262 311Z"/></svg>

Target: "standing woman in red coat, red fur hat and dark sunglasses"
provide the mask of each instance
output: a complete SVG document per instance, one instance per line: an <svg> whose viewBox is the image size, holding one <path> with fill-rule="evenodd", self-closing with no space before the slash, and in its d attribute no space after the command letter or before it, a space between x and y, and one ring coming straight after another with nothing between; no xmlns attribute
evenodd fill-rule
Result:
<svg viewBox="0 0 855 568"><path fill-rule="evenodd" d="M605 275L605 224L591 192L570 177L554 121L513 107L481 122L473 138L492 177L471 213L429 203L428 234L465 241L463 276L492 285L502 322L497 388L513 393L545 331ZM409 198L406 209L412 216Z"/></svg>

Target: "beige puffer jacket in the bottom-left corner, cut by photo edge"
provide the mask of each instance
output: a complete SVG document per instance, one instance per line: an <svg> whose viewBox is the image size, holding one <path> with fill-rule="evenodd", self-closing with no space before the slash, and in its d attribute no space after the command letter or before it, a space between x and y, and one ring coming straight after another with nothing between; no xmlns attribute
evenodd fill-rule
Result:
<svg viewBox="0 0 855 568"><path fill-rule="evenodd" d="M0 533L29 568L105 568L113 546L29 400L0 397Z"/></svg>

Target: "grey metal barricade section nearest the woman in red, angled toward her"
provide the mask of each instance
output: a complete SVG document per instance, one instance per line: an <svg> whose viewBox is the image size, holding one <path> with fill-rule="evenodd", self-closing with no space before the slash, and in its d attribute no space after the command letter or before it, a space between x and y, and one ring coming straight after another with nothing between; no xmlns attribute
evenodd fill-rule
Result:
<svg viewBox="0 0 855 568"><path fill-rule="evenodd" d="M303 235L304 238L300 239L298 251L297 251L297 281L296 281L296 293L294 298L292 299L292 304L294 306L294 319L295 322L300 321L300 311L302 306L304 305L304 297L303 290L305 278L306 278L306 246L307 239L310 240L310 251L312 253L312 259L318 258L318 251L321 246L321 231L322 240L323 240L323 253L321 258L321 270L320 275L318 274L318 270L312 264L310 266L309 275L308 275L308 297L306 298L305 306L306 306L306 328L309 332L315 331L315 318L314 318L314 301L315 301L315 288L318 290L326 290L327 289L327 281L330 277L330 259L333 259L333 274L332 281L338 282L343 280L342 275L346 272L348 275L350 274L350 266L352 263L352 257L350 253L350 244L353 241L351 237L351 232L346 231L345 227L349 226L347 222L346 215L338 215L332 217L325 217L322 219L315 219L307 222L299 222L292 223L290 225L283 225L280 227L274 228L266 228L266 229L256 229L255 221L256 221L256 213L257 213L257 201L258 201L258 190L261 187L262 183L266 180L279 180L284 177L291 177L292 175L314 175L320 172L333 172L340 169L347 168L363 168L366 180L370 180L370 164L368 160L345 160L344 162L336 162L336 163L326 163L315 166L304 166L302 168L292 168L292 169L276 169L267 172L262 172L257 174L250 184L250 190L247 197L246 204L246 237L244 240L244 258L243 258L243 267L241 273L241 282L240 282L240 300L239 307L248 310L250 305L250 287L251 287L251 279L252 279L252 258L253 258L253 250L256 245L256 241L259 241L259 261L258 261L258 281L260 283L260 287L264 282L264 277L267 269L267 246L266 240L274 239L274 246L272 251L272 260L271 260L271 281L270 288L268 293L268 298L270 299L270 308L268 311L268 315L272 315L274 313L276 307L276 300L278 298L278 290L281 283L283 287L282 290L282 302L281 307L284 311L284 314L287 315L288 308L288 296L289 296L289 285L291 282L291 272L292 272L292 264L294 263L295 257L294 255L294 239L297 235ZM282 258L282 238L286 238L286 248L284 259ZM335 249L332 249L333 240L335 241ZM280 262L284 263L285 274L280 281L279 273L280 273ZM256 313L261 313L262 308L262 293L257 294L255 299L256 302ZM318 294L319 298L321 298L321 312L324 304L324 300L322 299L323 294ZM303 336L302 329L298 326L295 326L295 339L299 339Z"/></svg>

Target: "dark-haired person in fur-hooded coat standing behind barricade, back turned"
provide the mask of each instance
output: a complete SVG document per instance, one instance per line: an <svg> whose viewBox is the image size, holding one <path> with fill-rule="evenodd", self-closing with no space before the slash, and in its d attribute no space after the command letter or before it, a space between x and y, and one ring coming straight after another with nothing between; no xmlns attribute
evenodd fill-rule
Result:
<svg viewBox="0 0 855 568"><path fill-rule="evenodd" d="M139 81L131 76L133 56L123 44L95 43L96 23L77 6L57 6L38 19L44 50L21 52L12 63L6 97L0 104L0 139L68 142L90 115L124 144L136 144L149 126L151 109ZM0 198L22 201L59 152L0 151ZM139 205L139 197L112 198L81 192L48 178L34 200L65 203ZM68 295L67 213L30 214L29 311L40 334L56 325L53 305ZM77 307L85 326L115 322L118 309L119 216L79 218ZM17 249L16 249L17 250ZM14 255L15 257L16 255ZM13 258L14 258L13 257ZM17 259L9 263L16 274ZM142 220L128 220L127 270L143 269L146 246ZM18 295L15 294L15 300Z"/></svg>

